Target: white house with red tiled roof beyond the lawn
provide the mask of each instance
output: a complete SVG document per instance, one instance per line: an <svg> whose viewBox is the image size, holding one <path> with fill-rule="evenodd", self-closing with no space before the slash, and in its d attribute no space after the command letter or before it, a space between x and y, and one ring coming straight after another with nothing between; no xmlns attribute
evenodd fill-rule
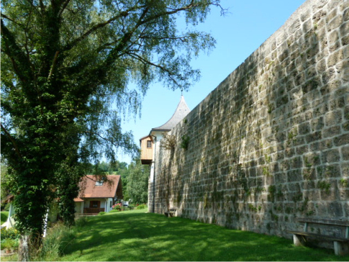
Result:
<svg viewBox="0 0 349 262"><path fill-rule="evenodd" d="M123 199L120 175L107 175L98 180L95 175L85 175L79 184L78 198L74 198L76 214L109 212L116 200Z"/></svg>

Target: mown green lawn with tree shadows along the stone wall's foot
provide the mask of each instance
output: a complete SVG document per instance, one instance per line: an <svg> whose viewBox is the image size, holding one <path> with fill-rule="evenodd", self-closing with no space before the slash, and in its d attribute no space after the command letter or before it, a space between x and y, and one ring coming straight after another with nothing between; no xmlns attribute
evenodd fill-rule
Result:
<svg viewBox="0 0 349 262"><path fill-rule="evenodd" d="M333 250L143 210L89 218L61 261L349 261Z"/></svg>

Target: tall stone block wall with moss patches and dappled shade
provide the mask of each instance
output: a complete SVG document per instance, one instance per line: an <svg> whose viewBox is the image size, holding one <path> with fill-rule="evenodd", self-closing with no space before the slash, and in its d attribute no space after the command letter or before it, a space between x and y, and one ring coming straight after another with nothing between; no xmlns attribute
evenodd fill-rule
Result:
<svg viewBox="0 0 349 262"><path fill-rule="evenodd" d="M288 238L348 218L348 42L349 1L303 3L157 148L150 208Z"/></svg>

